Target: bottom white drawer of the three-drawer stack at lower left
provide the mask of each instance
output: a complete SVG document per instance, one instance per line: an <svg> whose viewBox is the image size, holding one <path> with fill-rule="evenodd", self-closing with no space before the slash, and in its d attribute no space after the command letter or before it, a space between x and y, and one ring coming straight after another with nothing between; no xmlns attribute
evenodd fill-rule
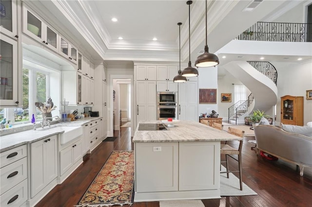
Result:
<svg viewBox="0 0 312 207"><path fill-rule="evenodd" d="M27 179L0 196L1 207L19 207L27 200Z"/></svg>

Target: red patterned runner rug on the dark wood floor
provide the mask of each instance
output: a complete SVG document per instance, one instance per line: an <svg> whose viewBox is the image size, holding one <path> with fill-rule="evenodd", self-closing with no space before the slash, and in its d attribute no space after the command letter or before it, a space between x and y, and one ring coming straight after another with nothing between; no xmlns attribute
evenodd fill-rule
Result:
<svg viewBox="0 0 312 207"><path fill-rule="evenodd" d="M132 205L134 151L113 151L76 207Z"/></svg>

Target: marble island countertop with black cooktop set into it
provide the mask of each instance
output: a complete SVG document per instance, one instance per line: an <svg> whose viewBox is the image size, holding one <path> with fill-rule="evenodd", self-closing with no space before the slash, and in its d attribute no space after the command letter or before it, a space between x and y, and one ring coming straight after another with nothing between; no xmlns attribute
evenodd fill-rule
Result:
<svg viewBox="0 0 312 207"><path fill-rule="evenodd" d="M161 121L139 121L139 123L161 123ZM226 141L242 139L226 131L215 129L196 121L178 121L174 125L173 127L167 127L168 130L139 131L139 124L137 124L133 142Z"/></svg>

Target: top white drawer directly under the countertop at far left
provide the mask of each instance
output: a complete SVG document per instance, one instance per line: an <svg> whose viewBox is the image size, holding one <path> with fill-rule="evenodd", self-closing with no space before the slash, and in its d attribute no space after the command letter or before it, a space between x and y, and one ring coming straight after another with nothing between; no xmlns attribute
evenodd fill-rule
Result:
<svg viewBox="0 0 312 207"><path fill-rule="evenodd" d="M3 153L1 153L1 158L0 158L0 166L1 168L12 163L15 162L23 157L25 157L27 155L27 148L26 148L26 144L22 145L20 147L16 147L14 149L5 151Z"/></svg>

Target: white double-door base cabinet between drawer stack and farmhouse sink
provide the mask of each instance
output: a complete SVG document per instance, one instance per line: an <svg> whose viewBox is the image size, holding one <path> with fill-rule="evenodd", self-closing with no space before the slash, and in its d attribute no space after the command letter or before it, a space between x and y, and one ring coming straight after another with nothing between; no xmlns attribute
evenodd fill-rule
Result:
<svg viewBox="0 0 312 207"><path fill-rule="evenodd" d="M54 135L30 144L31 198L58 176L57 142L57 135Z"/></svg>

